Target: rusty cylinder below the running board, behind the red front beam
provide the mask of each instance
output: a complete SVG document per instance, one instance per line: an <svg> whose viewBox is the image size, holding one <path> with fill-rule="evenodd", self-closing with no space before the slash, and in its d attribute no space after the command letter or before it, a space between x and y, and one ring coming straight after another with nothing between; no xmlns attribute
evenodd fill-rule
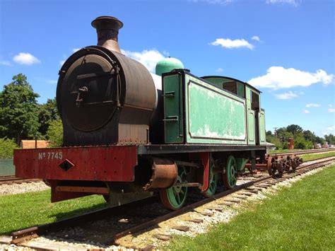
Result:
<svg viewBox="0 0 335 251"><path fill-rule="evenodd" d="M144 191L155 189L167 189L175 185L178 168L173 160L163 158L150 158L153 175L149 182L143 187Z"/></svg>

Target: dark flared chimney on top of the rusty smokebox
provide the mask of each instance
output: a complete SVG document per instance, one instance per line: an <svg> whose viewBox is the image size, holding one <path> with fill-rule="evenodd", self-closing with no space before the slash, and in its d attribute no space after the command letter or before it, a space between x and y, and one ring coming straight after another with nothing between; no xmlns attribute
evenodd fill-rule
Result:
<svg viewBox="0 0 335 251"><path fill-rule="evenodd" d="M98 33L98 45L121 53L117 35L119 29L123 27L123 23L119 19L112 16L99 16L91 24Z"/></svg>

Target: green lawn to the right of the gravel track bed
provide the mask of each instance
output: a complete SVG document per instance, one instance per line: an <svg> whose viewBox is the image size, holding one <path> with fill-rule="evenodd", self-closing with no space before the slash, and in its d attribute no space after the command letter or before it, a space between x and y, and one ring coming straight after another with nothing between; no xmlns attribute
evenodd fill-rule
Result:
<svg viewBox="0 0 335 251"><path fill-rule="evenodd" d="M169 250L334 250L335 165L248 204L229 223L188 238Z"/></svg>

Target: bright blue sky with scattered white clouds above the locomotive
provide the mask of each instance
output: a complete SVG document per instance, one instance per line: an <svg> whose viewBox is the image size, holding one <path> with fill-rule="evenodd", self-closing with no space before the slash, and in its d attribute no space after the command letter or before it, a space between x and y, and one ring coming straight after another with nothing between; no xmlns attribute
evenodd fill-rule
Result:
<svg viewBox="0 0 335 251"><path fill-rule="evenodd" d="M163 57L197 76L248 81L263 94L266 129L335 133L334 1L0 1L0 89L23 73L45 103L61 63L96 44L90 22L124 23L124 54L153 71Z"/></svg>

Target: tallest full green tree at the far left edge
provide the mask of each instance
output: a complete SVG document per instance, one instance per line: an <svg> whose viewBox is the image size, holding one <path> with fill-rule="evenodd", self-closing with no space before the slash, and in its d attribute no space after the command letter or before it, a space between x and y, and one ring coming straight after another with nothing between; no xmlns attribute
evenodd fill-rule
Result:
<svg viewBox="0 0 335 251"><path fill-rule="evenodd" d="M0 93L0 137L16 139L33 138L39 127L37 100L40 95L23 74L13 76L13 81Z"/></svg>

